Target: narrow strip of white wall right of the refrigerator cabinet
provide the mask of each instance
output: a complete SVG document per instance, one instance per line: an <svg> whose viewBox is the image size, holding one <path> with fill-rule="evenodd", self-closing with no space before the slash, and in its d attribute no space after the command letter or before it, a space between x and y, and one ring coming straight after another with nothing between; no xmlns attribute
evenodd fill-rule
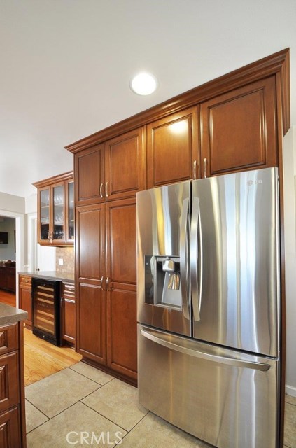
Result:
<svg viewBox="0 0 296 448"><path fill-rule="evenodd" d="M286 393L296 397L296 127L284 138L284 223L286 264Z"/></svg>

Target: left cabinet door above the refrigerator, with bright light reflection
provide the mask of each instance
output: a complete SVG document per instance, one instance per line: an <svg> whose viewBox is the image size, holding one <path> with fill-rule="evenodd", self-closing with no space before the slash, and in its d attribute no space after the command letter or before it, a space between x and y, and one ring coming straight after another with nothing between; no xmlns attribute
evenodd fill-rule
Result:
<svg viewBox="0 0 296 448"><path fill-rule="evenodd" d="M198 177L197 113L196 106L147 125L148 188Z"/></svg>

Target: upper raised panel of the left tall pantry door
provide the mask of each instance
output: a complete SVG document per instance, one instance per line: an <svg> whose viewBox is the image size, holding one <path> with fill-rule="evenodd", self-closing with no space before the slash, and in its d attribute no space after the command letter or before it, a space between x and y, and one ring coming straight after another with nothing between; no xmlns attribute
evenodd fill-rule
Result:
<svg viewBox="0 0 296 448"><path fill-rule="evenodd" d="M105 269L104 204L76 209L76 272L99 282Z"/></svg>

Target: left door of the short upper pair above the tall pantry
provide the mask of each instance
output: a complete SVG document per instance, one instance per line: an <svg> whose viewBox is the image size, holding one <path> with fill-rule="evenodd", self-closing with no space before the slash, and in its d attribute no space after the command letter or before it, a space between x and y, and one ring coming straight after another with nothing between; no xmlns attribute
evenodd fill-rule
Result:
<svg viewBox="0 0 296 448"><path fill-rule="evenodd" d="M92 146L74 157L76 204L104 201L100 188L104 184L104 145Z"/></svg>

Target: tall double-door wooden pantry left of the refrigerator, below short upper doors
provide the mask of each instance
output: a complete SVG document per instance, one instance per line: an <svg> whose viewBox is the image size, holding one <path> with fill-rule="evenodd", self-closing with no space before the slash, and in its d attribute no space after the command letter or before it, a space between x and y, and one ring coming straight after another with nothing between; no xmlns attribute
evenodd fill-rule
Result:
<svg viewBox="0 0 296 448"><path fill-rule="evenodd" d="M76 349L136 382L136 200L76 208Z"/></svg>

